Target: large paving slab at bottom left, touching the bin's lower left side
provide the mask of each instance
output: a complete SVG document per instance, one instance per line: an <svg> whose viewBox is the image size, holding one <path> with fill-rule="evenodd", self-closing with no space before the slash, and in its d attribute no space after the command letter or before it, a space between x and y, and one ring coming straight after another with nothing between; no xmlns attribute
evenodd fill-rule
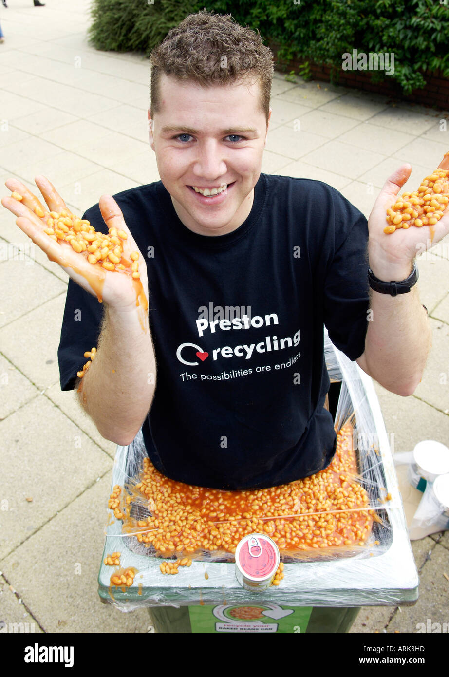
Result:
<svg viewBox="0 0 449 677"><path fill-rule="evenodd" d="M110 482L93 483L0 563L45 632L148 632L147 609L121 613L98 596Z"/></svg>

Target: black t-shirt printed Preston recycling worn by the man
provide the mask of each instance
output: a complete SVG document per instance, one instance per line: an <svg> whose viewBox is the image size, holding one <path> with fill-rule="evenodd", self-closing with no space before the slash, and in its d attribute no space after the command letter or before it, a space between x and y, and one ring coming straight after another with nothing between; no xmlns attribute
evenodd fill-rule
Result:
<svg viewBox="0 0 449 677"><path fill-rule="evenodd" d="M114 197L148 261L157 383L142 432L156 468L221 489L274 486L325 468L335 431L323 409L323 324L350 359L363 353L362 213L320 181L261 174L244 223L203 236L179 220L161 181ZM107 232L98 205L84 218ZM63 390L97 345L101 318L97 299L70 281L58 351Z"/></svg>

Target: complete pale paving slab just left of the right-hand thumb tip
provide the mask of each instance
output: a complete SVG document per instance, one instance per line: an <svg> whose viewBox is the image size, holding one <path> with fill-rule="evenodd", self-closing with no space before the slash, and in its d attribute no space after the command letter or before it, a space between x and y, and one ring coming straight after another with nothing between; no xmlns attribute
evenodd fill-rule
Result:
<svg viewBox="0 0 449 677"><path fill-rule="evenodd" d="M349 179L358 179L358 177L372 169L379 162L385 160L385 156L380 153L373 153L370 150L363 150L356 148L356 146L349 146L349 144L342 144L341 141L335 139L328 141L324 146L320 146L318 150L301 158L304 162L309 162L310 165L321 167L327 171L333 171L338 168L341 175Z"/></svg>

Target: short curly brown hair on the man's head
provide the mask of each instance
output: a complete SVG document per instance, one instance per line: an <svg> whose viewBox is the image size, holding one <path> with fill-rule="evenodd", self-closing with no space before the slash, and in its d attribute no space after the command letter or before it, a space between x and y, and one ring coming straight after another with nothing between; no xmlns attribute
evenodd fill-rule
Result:
<svg viewBox="0 0 449 677"><path fill-rule="evenodd" d="M272 51L263 45L259 31L240 26L230 14L214 14L207 9L189 14L150 54L150 115L160 110L161 73L201 87L254 77L260 83L260 108L268 122L273 61Z"/></svg>

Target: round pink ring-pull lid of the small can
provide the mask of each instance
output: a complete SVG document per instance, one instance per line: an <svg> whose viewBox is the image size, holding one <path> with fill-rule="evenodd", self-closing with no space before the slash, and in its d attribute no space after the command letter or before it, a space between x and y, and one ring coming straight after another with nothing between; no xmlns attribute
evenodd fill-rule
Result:
<svg viewBox="0 0 449 677"><path fill-rule="evenodd" d="M279 560L278 546L261 533L245 536L236 548L240 571L255 580L270 577L278 568Z"/></svg>

